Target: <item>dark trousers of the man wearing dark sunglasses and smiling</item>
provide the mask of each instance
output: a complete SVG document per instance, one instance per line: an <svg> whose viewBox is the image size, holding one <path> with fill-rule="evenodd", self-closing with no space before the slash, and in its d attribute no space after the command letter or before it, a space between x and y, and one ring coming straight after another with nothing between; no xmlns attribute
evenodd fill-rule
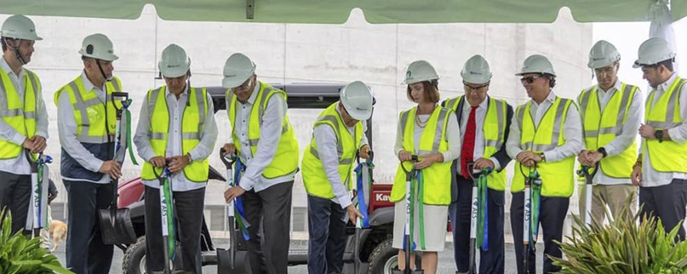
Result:
<svg viewBox="0 0 687 274"><path fill-rule="evenodd" d="M513 229L513 242L515 245L515 263L517 265L517 273L525 273L523 262L523 201L525 200L524 192L513 193L513 200L510 203L510 226ZM544 273L554 273L560 271L559 266L554 266L553 261L548 258L548 255L561 258L563 252L558 244L554 242L563 241L563 222L567 215L567 208L570 206L570 198L567 197L541 197L541 210L539 211L539 225L541 230L539 233L544 236ZM530 242L532 245L532 242ZM530 273L536 269L536 254L532 249L529 251L528 269Z"/></svg>

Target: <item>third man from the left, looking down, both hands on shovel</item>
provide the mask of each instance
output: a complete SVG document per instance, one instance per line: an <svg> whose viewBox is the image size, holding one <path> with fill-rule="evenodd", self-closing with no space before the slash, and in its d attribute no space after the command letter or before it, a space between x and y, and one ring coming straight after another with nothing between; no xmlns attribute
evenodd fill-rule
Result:
<svg viewBox="0 0 687 274"><path fill-rule="evenodd" d="M181 269L200 274L201 229L208 156L217 140L212 98L205 88L190 85L191 60L178 45L162 51L158 68L166 86L149 90L139 115L134 142L146 160L146 269L161 271L166 260L160 219L160 183L155 173L168 166L174 197ZM155 171L153 170L155 169ZM176 270L176 269L175 269Z"/></svg>

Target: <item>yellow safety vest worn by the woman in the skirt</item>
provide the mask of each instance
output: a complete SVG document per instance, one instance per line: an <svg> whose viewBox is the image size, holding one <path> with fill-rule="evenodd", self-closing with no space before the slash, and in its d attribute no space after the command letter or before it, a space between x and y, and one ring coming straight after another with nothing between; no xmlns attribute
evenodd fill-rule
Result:
<svg viewBox="0 0 687 274"><path fill-rule="evenodd" d="M403 149L410 153L415 153L415 114L418 107L401 112L398 119L403 129ZM429 153L439 153L449 150L449 143L446 138L446 127L449 122L449 115L453 114L448 108L437 106L429 116L427 125L423 129L420 137L420 148L418 155ZM422 160L420 158L419 160ZM451 203L451 164L453 162L436 162L423 169L425 185L423 201L428 205L446 206ZM407 170L412 169L412 163L404 162ZM405 197L405 171L398 164L396 178L391 190L391 201L401 201Z"/></svg>

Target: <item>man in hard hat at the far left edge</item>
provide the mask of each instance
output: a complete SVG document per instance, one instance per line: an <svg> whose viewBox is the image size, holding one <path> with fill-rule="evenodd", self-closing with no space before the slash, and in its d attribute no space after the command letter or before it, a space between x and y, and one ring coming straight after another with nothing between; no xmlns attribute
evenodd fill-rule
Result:
<svg viewBox="0 0 687 274"><path fill-rule="evenodd" d="M29 210L31 166L24 151L43 152L48 137L41 81L24 67L31 62L34 42L43 38L22 15L7 18L0 31L0 209L12 212L14 233L23 231Z"/></svg>

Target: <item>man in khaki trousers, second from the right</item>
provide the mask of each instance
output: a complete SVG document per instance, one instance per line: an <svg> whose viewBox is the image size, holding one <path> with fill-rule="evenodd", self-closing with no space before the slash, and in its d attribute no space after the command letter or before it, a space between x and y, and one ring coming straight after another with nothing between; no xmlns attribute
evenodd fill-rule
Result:
<svg viewBox="0 0 687 274"><path fill-rule="evenodd" d="M605 206L609 206L613 219L630 218L637 207L637 187L629 176L637 159L635 137L640 127L642 92L620 82L620 53L605 40L596 42L589 51L587 66L594 70L598 84L577 97L587 147L577 159L583 166L598 163L600 170L592 180L592 208L585 208L587 197L580 195L580 216L592 214L592 219L603 223ZM579 193L585 193L585 188L581 184ZM631 211L618 216L628 197L633 197Z"/></svg>

